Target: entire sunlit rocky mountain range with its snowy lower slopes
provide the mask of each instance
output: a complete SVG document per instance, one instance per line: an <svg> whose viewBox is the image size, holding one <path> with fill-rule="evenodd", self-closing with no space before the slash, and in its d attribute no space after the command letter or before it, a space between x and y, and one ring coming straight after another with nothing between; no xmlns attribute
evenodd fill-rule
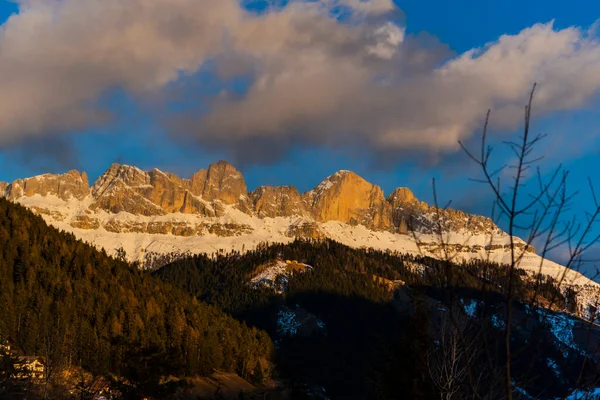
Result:
<svg viewBox="0 0 600 400"><path fill-rule="evenodd" d="M260 243L330 238L374 248L454 261L510 260L510 237L486 217L441 209L400 187L383 190L351 171L338 171L314 189L261 186L248 191L243 175L219 161L180 178L159 169L113 164L90 185L85 172L45 174L0 182L0 195L47 223L142 267L157 268L182 255L247 251ZM520 267L560 277L564 267L542 260L520 240ZM580 292L598 284L568 271Z"/></svg>

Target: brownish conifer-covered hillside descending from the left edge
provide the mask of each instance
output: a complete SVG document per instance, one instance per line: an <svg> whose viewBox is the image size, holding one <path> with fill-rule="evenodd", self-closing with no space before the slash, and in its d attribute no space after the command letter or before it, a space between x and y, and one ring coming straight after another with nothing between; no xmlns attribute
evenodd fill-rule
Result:
<svg viewBox="0 0 600 400"><path fill-rule="evenodd" d="M130 382L140 373L132 372L140 357L155 357L153 367L165 375L221 370L249 378L268 365L273 350L266 333L48 227L5 199L0 335L53 365L80 365Z"/></svg>

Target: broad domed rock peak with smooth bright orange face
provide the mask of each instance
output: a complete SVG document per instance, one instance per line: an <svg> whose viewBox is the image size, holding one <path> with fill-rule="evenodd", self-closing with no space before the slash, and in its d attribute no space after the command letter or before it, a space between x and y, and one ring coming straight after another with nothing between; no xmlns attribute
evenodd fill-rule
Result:
<svg viewBox="0 0 600 400"><path fill-rule="evenodd" d="M391 227L392 208L383 190L354 172L339 171L303 197L319 222L341 221L374 229Z"/></svg>

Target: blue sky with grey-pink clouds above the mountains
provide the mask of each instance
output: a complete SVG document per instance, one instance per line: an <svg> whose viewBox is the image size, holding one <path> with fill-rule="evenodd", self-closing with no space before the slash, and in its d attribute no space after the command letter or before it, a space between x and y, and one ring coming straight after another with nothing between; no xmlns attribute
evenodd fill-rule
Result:
<svg viewBox="0 0 600 400"><path fill-rule="evenodd" d="M477 146L490 109L510 164L537 82L542 175L564 165L583 210L599 19L592 0L0 0L0 181L226 159L249 189L349 169L431 202L435 178L440 203L489 215L458 142Z"/></svg>

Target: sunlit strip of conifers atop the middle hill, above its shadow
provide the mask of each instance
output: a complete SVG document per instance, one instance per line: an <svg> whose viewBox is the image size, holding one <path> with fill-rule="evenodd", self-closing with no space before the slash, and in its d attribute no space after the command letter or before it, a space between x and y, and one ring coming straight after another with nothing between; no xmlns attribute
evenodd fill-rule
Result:
<svg viewBox="0 0 600 400"><path fill-rule="evenodd" d="M200 300L243 317L252 309L272 302L273 290L251 287L248 281L259 266L277 258L317 266L311 274L298 274L290 280L288 296L301 291L321 291L388 301L388 288L371 279L373 276L401 280L410 287L474 289L496 294L506 285L503 266L493 262L448 263L431 257L351 249L332 240L263 244L243 255L239 252L214 257L196 255L175 261L154 275ZM451 274L447 274L449 267ZM531 280L523 279L524 276L523 271L513 277L517 299L527 302L535 293L558 307L565 305L565 297L551 277Z"/></svg>

